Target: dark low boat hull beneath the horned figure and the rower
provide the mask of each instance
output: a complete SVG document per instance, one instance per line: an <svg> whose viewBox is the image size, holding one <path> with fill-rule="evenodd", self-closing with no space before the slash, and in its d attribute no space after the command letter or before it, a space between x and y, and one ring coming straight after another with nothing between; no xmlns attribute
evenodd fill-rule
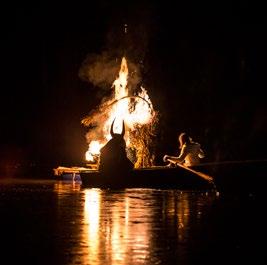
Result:
<svg viewBox="0 0 267 265"><path fill-rule="evenodd" d="M127 173L103 174L97 170L81 171L83 187L94 188L159 188L181 190L215 189L212 179L185 167L154 166L133 169Z"/></svg>

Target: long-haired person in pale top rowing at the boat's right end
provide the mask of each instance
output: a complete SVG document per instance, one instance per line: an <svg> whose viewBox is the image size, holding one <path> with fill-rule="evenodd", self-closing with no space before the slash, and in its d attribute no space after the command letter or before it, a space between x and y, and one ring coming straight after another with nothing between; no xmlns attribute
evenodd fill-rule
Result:
<svg viewBox="0 0 267 265"><path fill-rule="evenodd" d="M201 145L194 142L186 133L181 133L178 140L180 144L179 156L165 155L163 161L169 162L169 167L176 166L178 163L187 167L198 165L200 160L205 157Z"/></svg>

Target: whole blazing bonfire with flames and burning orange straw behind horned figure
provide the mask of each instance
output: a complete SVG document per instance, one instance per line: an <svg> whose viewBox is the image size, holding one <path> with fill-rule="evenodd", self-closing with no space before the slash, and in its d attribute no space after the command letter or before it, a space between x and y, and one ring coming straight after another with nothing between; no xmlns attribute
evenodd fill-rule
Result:
<svg viewBox="0 0 267 265"><path fill-rule="evenodd" d="M136 92L129 94L128 76L127 61L123 57L118 78L112 84L112 98L82 119L82 124L89 127L89 147L85 156L90 163L98 163L100 149L111 138L110 126L115 119L115 133L121 132L122 120L125 122L127 155L135 168L154 164L153 136L158 115L144 87L135 88Z"/></svg>

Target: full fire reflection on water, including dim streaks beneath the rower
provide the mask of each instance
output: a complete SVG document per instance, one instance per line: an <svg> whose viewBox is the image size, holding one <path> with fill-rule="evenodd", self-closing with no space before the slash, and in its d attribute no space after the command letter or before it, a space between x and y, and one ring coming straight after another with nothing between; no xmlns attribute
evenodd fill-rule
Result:
<svg viewBox="0 0 267 265"><path fill-rule="evenodd" d="M84 190L82 263L156 264L161 262L157 251L164 253L162 247L170 251L168 242L164 245L165 233L173 243L185 243L192 222L190 208L197 222L203 202L178 191L158 191L157 196L155 192Z"/></svg>

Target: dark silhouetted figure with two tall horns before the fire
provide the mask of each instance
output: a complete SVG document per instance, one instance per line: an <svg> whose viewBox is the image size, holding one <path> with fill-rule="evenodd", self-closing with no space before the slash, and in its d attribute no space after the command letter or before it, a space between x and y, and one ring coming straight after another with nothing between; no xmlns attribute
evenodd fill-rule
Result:
<svg viewBox="0 0 267 265"><path fill-rule="evenodd" d="M99 171L111 174L120 174L133 169L134 165L127 157L126 142L124 140L125 126L122 122L122 132L114 133L113 120L110 129L111 139L100 150Z"/></svg>

